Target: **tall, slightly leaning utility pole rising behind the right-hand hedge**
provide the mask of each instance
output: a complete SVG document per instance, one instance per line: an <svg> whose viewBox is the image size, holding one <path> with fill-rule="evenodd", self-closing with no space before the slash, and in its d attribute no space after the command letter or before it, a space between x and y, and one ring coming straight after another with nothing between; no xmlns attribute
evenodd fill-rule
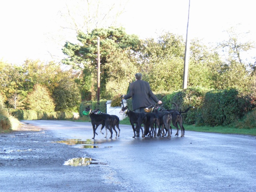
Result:
<svg viewBox="0 0 256 192"><path fill-rule="evenodd" d="M189 0L189 4L188 4L188 20L189 20L189 10L190 10L190 0ZM188 24L187 24L182 89L186 89L188 86L188 62L189 62L189 52L190 52L189 47L190 47L190 43L188 43Z"/></svg>

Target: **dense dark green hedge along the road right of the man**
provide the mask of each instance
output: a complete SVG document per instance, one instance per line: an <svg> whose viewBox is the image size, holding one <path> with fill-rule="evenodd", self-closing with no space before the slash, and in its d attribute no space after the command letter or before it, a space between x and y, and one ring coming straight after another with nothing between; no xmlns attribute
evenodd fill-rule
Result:
<svg viewBox="0 0 256 192"><path fill-rule="evenodd" d="M195 109L182 114L185 124L226 126L242 119L256 107L255 96L236 89L210 90L206 88L187 88L168 94L162 99L166 109L174 108L172 102L184 111L189 106Z"/></svg>

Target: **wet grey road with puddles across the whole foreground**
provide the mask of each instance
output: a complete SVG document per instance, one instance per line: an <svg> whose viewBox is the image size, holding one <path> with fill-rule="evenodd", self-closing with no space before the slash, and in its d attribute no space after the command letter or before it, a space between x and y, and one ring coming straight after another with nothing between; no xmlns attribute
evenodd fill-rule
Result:
<svg viewBox="0 0 256 192"><path fill-rule="evenodd" d="M173 130L143 139L120 125L119 138L98 130L92 140L90 122L23 122L41 131L0 134L1 192L256 191L255 136Z"/></svg>

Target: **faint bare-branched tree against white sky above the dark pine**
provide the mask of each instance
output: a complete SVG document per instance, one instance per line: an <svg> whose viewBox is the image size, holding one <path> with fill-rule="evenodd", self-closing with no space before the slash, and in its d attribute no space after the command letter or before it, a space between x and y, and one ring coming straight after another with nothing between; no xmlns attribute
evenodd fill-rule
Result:
<svg viewBox="0 0 256 192"><path fill-rule="evenodd" d="M126 2L123 0L77 0L66 4L66 12L61 12L68 28L75 32L89 34L95 28L118 26L117 19L124 12Z"/></svg>

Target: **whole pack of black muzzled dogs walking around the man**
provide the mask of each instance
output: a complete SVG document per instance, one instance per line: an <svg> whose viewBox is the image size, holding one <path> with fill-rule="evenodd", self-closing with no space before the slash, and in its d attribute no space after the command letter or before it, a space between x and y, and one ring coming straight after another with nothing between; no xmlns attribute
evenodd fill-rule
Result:
<svg viewBox="0 0 256 192"><path fill-rule="evenodd" d="M122 98L121 98L122 100ZM133 112L132 110L128 109L128 106L124 107L124 104L122 102L122 109L120 110L120 114L126 114L129 117L130 124L132 125L132 130L134 132L134 136L132 138L136 138L136 130L141 130L142 132L142 138L145 138L146 136L149 136L150 138L156 137L156 136L166 136L167 138L171 138L172 134L172 126L176 127L177 132L175 136L179 136L179 129L181 130L181 137L184 137L185 129L182 124L182 113L188 112L191 108L194 108L193 106L188 107L185 111L178 111L178 106L175 103L172 103L175 106L175 109L163 109L158 104L148 106L144 109L144 112ZM120 120L118 116L116 115L110 115L103 112L100 112L99 109L91 110L90 107L86 107L83 111L84 115L89 115L92 123L92 129L93 129L93 138L95 138L95 135L98 135L96 133L96 130L98 126L102 125L100 129L100 133L102 133L102 129L106 128L106 135L107 137L107 130L109 130L111 136L110 139L112 139L113 130L116 133L116 137L119 137L120 135L120 128L119 123ZM134 126L135 125L135 126ZM142 125L144 127L144 130L142 128ZM116 130L118 129L118 132ZM157 132L158 128L158 132ZM102 133L103 134L103 133Z"/></svg>

